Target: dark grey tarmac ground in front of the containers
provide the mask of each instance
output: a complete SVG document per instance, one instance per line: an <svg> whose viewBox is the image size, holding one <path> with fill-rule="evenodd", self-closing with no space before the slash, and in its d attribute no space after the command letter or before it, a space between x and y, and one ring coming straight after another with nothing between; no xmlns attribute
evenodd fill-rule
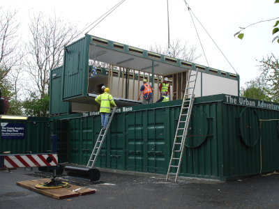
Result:
<svg viewBox="0 0 279 209"><path fill-rule="evenodd" d="M279 175L220 182L100 169L100 183L82 185L95 194L54 199L16 185L38 179L27 169L0 171L0 208L279 208ZM33 175L33 176L30 176ZM65 180L66 181L66 180ZM86 184L86 183L85 183Z"/></svg>

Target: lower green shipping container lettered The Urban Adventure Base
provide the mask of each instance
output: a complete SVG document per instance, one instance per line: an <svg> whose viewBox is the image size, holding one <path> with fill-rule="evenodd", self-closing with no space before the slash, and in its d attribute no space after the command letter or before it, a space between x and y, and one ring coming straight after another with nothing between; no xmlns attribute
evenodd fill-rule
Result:
<svg viewBox="0 0 279 209"><path fill-rule="evenodd" d="M166 174L181 102L117 109L96 167ZM224 94L196 98L179 176L235 180L279 169L278 119L276 103ZM67 133L61 140L68 162L86 165L100 132L98 111L55 120L51 132Z"/></svg>

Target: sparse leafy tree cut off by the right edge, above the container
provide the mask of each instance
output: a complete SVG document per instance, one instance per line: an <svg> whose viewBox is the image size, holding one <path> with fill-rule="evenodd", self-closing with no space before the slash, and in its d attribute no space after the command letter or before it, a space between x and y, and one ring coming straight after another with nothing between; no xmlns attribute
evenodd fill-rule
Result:
<svg viewBox="0 0 279 209"><path fill-rule="evenodd" d="M278 59L271 54L271 56L267 56L267 59L262 59L259 63L259 70L262 71L262 75L265 77L269 88L267 88L267 93L271 101L279 102L279 63Z"/></svg>

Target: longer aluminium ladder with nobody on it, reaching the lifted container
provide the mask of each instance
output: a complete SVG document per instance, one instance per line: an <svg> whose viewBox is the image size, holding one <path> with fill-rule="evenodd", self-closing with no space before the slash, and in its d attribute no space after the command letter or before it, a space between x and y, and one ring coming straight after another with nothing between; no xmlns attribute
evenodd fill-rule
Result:
<svg viewBox="0 0 279 209"><path fill-rule="evenodd" d="M176 182L181 167L186 135L188 132L190 118L193 110L193 104L195 100L194 91L195 91L195 84L197 81L197 68L196 70L193 71L194 72L192 73L192 69L191 69L188 72L189 73L188 80L186 84L185 93L183 96L179 121L177 123L176 133L174 137L174 145L172 147L172 155L169 161L169 169L167 171L166 181L168 180L169 176L175 176L175 182ZM188 98L190 98L190 100L187 100Z"/></svg>

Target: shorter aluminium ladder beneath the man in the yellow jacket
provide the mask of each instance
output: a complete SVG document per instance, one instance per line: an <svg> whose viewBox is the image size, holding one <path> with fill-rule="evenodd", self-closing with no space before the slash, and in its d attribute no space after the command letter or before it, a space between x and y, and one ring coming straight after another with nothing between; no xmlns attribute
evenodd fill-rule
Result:
<svg viewBox="0 0 279 209"><path fill-rule="evenodd" d="M89 161L87 163L87 166L86 166L87 168L93 168L94 165L96 164L97 157L100 153L100 148L102 147L103 142L105 141L105 136L107 135L107 130L109 130L109 128L110 128L110 123L112 123L112 118L114 116L115 110L116 110L116 107L114 107L112 109L112 114L110 115L109 123L107 123L107 128L102 127L101 130L100 130L100 134L98 136L96 144L93 148L93 151L92 151L91 156L89 158Z"/></svg>

